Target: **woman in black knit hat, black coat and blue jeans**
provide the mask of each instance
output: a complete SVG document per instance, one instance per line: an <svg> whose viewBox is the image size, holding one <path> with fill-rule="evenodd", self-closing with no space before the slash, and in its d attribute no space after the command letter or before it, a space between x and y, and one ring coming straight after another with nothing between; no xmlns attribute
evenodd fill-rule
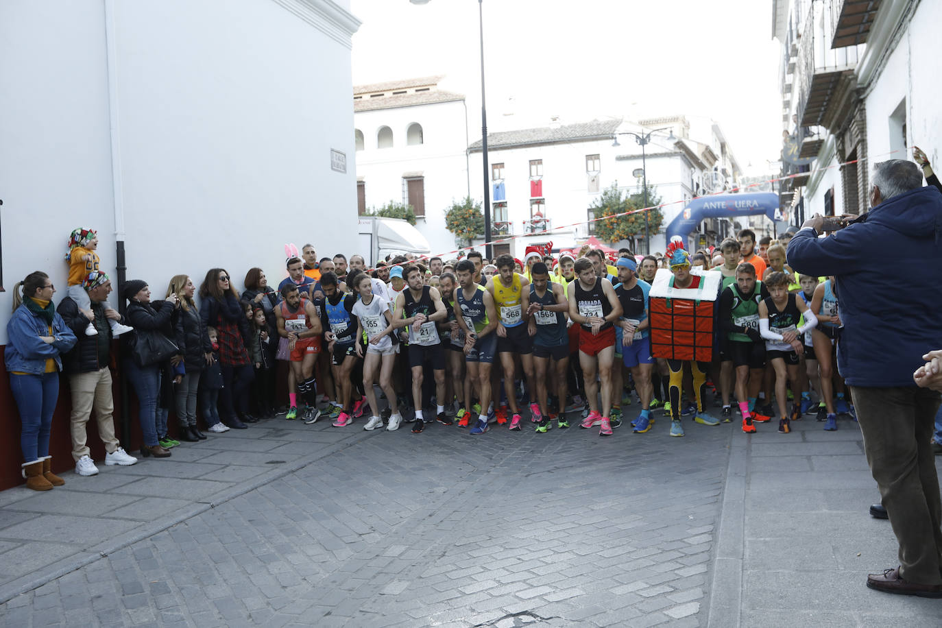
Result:
<svg viewBox="0 0 942 628"><path fill-rule="evenodd" d="M141 332L167 335L173 309L177 302L176 295L171 295L167 300L160 301L159 309L154 309L151 304L151 290L147 286L147 282L130 280L122 285L122 297L129 301L125 315L128 322L135 329L134 335L138 342L140 341L139 334ZM148 364L141 366L133 356L128 356L128 359L124 360L124 366L127 369L127 376L138 395L138 420L140 421L140 431L144 440L144 444L140 447L140 453L144 457L168 458L171 452L159 443L156 427L161 365Z"/></svg>

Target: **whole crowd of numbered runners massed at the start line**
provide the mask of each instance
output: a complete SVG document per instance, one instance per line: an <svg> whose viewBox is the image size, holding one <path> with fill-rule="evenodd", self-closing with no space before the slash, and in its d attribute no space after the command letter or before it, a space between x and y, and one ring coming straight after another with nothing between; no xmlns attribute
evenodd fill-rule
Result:
<svg viewBox="0 0 942 628"><path fill-rule="evenodd" d="M275 308L280 357L290 362L286 416L311 424L328 415L347 427L368 411L367 430L411 423L419 433L438 422L477 435L520 430L525 418L545 433L554 422L569 427L567 414L581 411L579 427L610 436L634 396L636 433L651 429L658 409L677 437L690 415L705 426L735 416L747 433L777 415L778 431L788 433L791 421L814 412L824 429L836 429L837 414L853 416L835 368L836 286L797 276L778 249L770 248L767 266L755 254L755 233L744 230L723 240L715 251L723 263L710 270L704 255L679 243L663 261L629 250L610 260L601 250L578 259L529 251L523 263L503 254L487 266L471 251L461 261L426 266L400 256L368 270L359 255L349 265L343 255L318 264L308 245L303 261L287 260ZM669 346L688 342L682 332L651 329L658 272L672 291L668 303L712 305L712 346L695 359L677 359ZM668 328L681 316L664 315ZM661 334L656 343L652 332ZM714 400L719 411L708 410Z"/></svg>

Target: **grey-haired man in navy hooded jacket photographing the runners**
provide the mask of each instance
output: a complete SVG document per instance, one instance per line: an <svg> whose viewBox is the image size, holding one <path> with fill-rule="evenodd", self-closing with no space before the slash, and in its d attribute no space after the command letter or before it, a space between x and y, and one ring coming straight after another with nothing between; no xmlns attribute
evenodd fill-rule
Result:
<svg viewBox="0 0 942 628"><path fill-rule="evenodd" d="M900 544L900 564L871 573L867 586L942 597L942 503L932 444L938 392L914 372L942 339L942 195L922 186L910 161L877 164L869 213L820 238L824 218L807 220L788 244L788 264L834 275L844 332L837 366L851 388L870 472ZM874 254L892 250L898 264ZM913 272L900 274L900 267Z"/></svg>

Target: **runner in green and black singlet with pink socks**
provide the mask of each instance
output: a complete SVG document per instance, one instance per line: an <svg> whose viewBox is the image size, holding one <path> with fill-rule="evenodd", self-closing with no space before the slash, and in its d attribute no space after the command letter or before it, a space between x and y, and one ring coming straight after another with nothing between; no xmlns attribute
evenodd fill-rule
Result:
<svg viewBox="0 0 942 628"><path fill-rule="evenodd" d="M725 255L723 255L725 257ZM755 281L755 268L743 262L736 269L736 282L720 295L720 330L723 331L723 367L736 369L736 398L742 416L742 431L755 432L755 398L765 374L765 343L759 334L759 303L769 297L765 284ZM723 393L723 417L731 414L729 394ZM771 419L766 419L771 420Z"/></svg>

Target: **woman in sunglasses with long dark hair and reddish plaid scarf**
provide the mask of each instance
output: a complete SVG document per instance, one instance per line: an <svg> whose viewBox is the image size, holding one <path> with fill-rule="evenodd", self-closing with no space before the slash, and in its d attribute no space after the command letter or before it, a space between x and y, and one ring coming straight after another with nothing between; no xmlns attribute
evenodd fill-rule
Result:
<svg viewBox="0 0 942 628"><path fill-rule="evenodd" d="M255 374L245 338L249 335L245 312L225 268L210 268L200 286L203 324L219 333L219 366L223 387L219 391L219 416L235 429L245 429L243 421L257 423L249 414L249 389Z"/></svg>

